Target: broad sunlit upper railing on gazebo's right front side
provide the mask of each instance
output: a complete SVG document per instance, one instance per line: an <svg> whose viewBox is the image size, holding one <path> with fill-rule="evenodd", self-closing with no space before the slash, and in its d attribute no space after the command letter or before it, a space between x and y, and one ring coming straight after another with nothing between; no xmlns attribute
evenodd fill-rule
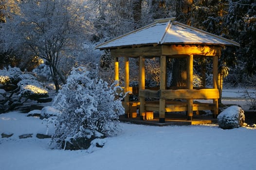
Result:
<svg viewBox="0 0 256 170"><path fill-rule="evenodd" d="M178 89L178 90L160 90L162 99L219 99L219 90L209 89Z"/></svg>

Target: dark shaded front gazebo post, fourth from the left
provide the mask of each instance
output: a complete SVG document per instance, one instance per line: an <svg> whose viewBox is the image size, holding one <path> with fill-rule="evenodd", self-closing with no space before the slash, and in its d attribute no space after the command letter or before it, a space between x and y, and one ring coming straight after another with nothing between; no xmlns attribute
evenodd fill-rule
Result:
<svg viewBox="0 0 256 170"><path fill-rule="evenodd" d="M166 88L166 56L160 57L160 90ZM160 98L159 101L159 122L165 122L165 100Z"/></svg>

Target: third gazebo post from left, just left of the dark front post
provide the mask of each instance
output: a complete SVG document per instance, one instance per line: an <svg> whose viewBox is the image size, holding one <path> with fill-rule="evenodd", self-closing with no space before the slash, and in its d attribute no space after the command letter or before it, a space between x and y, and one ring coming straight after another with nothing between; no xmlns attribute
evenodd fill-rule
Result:
<svg viewBox="0 0 256 170"><path fill-rule="evenodd" d="M140 90L145 89L145 57L140 56ZM140 97L140 119L145 119L145 98Z"/></svg>

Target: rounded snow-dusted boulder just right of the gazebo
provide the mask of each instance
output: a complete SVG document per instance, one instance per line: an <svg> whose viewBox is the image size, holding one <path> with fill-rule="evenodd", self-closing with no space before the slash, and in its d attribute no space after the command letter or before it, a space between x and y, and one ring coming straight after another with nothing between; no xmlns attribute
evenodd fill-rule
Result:
<svg viewBox="0 0 256 170"><path fill-rule="evenodd" d="M239 106L230 106L218 116L219 127L222 129L234 129L243 126L245 122L244 111Z"/></svg>

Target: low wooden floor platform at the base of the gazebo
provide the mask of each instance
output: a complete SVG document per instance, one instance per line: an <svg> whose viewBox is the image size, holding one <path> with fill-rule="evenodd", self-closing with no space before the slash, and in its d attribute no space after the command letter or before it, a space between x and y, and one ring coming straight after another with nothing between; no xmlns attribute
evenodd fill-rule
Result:
<svg viewBox="0 0 256 170"><path fill-rule="evenodd" d="M192 120L187 120L185 114L171 113L165 116L165 123L160 123L159 118L154 117L151 120L141 120L139 116L136 118L125 118L120 116L121 122L130 122L134 124L144 124L151 126L170 126L170 125L196 125L196 124L211 124L217 123L217 119L214 119L212 115L193 115Z"/></svg>

